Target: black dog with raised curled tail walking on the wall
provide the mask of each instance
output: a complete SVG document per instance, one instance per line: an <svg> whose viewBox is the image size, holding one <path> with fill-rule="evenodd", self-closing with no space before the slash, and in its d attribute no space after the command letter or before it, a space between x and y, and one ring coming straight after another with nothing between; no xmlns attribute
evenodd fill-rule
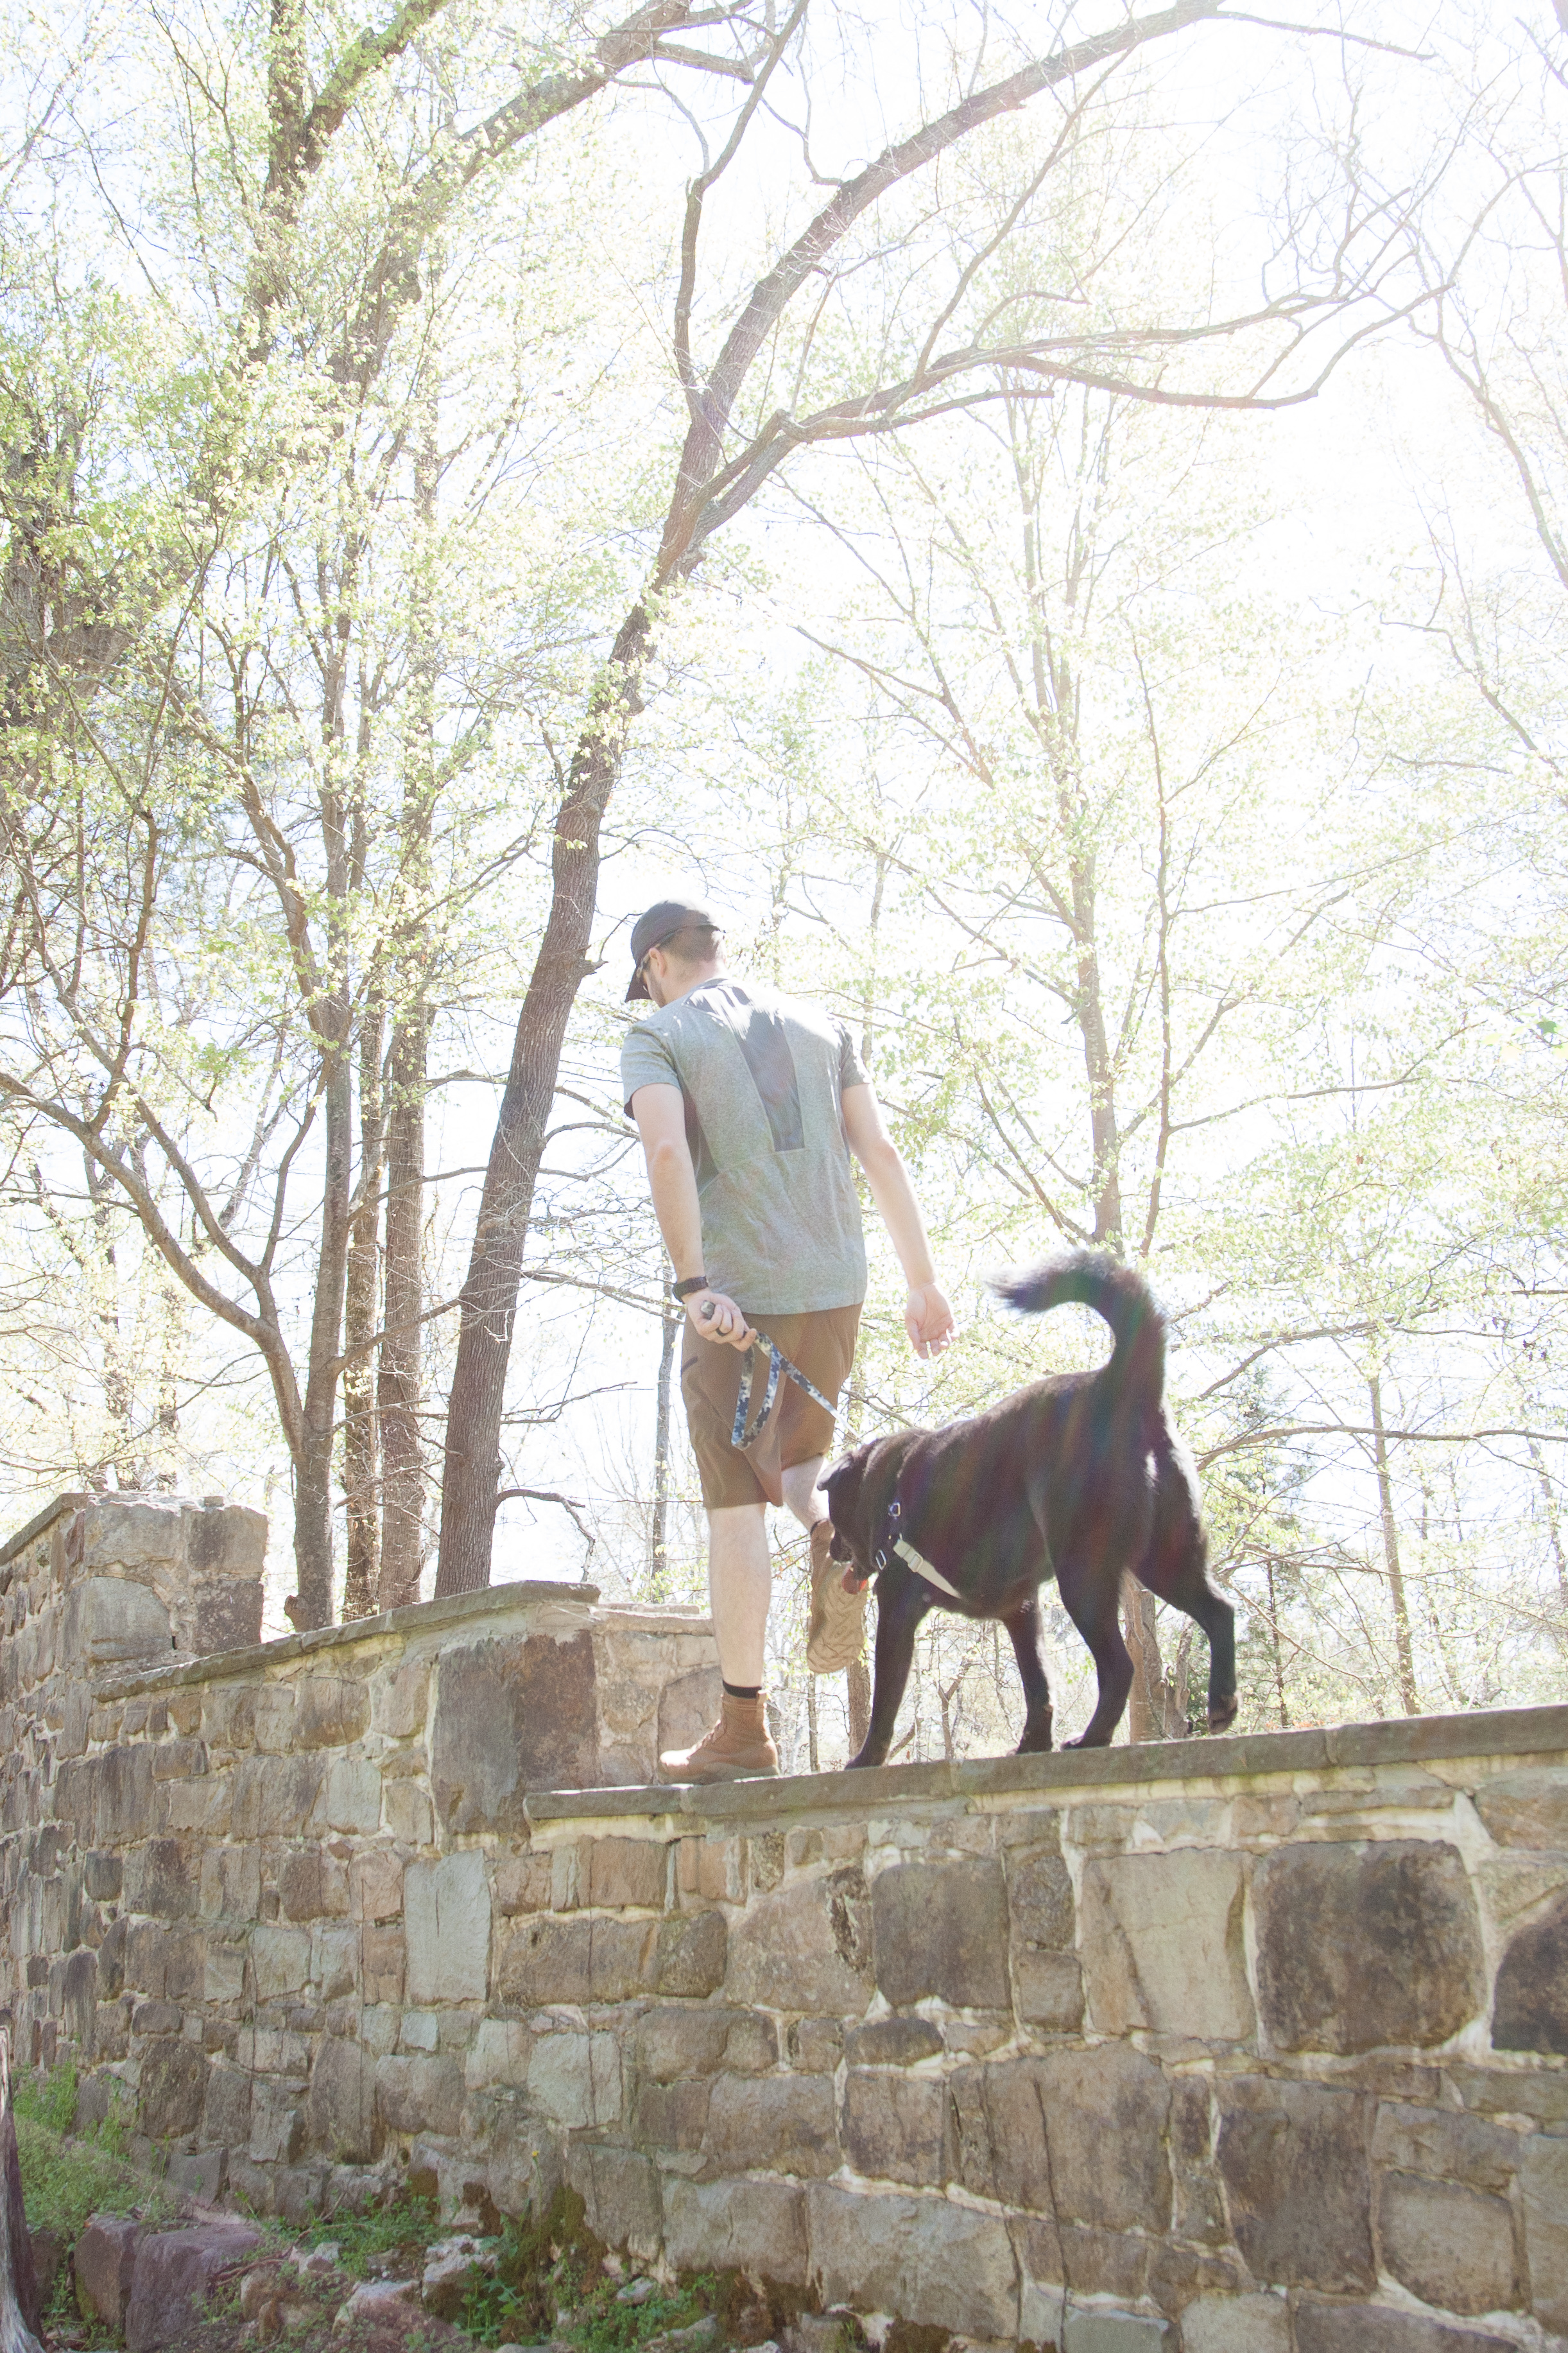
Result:
<svg viewBox="0 0 1568 2353"><path fill-rule="evenodd" d="M1032 1381L945 1431L875 1438L827 1473L832 1558L851 1562L858 1584L877 1577L872 1725L851 1765L886 1758L914 1628L933 1607L1001 1619L1027 1701L1018 1753L1048 1748L1039 1586L1051 1574L1100 1675L1088 1729L1070 1746L1105 1746L1133 1685L1117 1624L1124 1569L1208 1635L1208 1729L1237 1715L1237 1614L1208 1584L1197 1468L1164 1407L1166 1327L1147 1282L1084 1249L997 1292L1034 1315L1077 1299L1105 1318L1117 1346L1098 1372Z"/></svg>

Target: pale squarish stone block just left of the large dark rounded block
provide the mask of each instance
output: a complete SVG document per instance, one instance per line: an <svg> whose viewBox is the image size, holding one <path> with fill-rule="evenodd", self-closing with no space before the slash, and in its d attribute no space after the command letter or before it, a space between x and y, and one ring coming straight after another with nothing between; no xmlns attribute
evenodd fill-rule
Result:
<svg viewBox="0 0 1568 2353"><path fill-rule="evenodd" d="M1086 1861L1079 1953L1100 2033L1246 2040L1244 1904L1241 1857L1218 1847Z"/></svg>

